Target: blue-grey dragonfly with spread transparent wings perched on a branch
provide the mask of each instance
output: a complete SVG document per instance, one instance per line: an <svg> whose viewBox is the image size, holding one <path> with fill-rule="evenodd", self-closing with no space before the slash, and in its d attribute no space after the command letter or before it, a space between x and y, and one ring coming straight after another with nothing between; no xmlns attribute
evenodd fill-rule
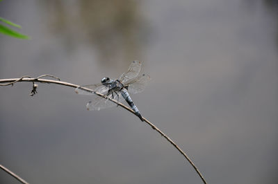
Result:
<svg viewBox="0 0 278 184"><path fill-rule="evenodd" d="M142 62L133 61L131 62L129 69L123 73L119 79L110 79L104 77L98 84L90 84L85 86L79 86L75 89L77 94L81 95L94 95L93 91L105 95L107 98L96 97L86 104L87 110L93 111L100 109L106 109L108 107L115 107L117 104L108 100L108 98L117 100L117 102L124 102L129 104L131 109L134 111L136 116L143 121L140 111L131 100L129 93L136 94L144 91L146 85L151 80L151 77L147 74L140 74ZM88 91L86 89L91 89Z"/></svg>

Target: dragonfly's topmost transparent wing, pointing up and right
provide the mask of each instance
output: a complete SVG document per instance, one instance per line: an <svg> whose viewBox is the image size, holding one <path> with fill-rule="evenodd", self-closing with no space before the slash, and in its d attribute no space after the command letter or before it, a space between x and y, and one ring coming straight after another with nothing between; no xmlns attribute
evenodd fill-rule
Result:
<svg viewBox="0 0 278 184"><path fill-rule="evenodd" d="M123 73L120 76L120 82L126 82L128 80L133 79L134 77L137 77L137 75L140 73L142 66L142 62L139 61L133 61L131 62L131 65L129 66L129 70Z"/></svg>

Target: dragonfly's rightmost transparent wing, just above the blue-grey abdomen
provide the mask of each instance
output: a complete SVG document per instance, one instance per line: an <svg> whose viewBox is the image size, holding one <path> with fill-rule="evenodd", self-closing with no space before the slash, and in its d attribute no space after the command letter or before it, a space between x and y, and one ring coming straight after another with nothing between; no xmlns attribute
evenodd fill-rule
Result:
<svg viewBox="0 0 278 184"><path fill-rule="evenodd" d="M127 89L129 93L136 94L144 91L150 80L151 77L149 77L149 75L142 74L132 80L127 81L124 86L128 86Z"/></svg>

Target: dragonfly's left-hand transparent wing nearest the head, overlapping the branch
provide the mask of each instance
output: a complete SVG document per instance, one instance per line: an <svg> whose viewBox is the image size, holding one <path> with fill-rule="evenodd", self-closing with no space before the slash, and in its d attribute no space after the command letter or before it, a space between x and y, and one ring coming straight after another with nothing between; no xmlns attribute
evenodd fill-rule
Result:
<svg viewBox="0 0 278 184"><path fill-rule="evenodd" d="M79 95L93 95L94 93L88 89L92 89L104 95L108 92L108 88L101 83L79 86L74 91Z"/></svg>

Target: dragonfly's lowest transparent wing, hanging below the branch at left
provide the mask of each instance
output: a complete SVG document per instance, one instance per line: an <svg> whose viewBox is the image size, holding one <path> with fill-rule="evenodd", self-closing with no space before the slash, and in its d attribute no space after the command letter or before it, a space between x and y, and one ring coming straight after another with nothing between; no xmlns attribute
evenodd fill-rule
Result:
<svg viewBox="0 0 278 184"><path fill-rule="evenodd" d="M112 94L108 95L109 98L113 98L115 100L117 100L118 102L123 102L124 101L124 98L122 97L122 95L120 94L120 92L117 94L119 96L117 96L115 93L114 93L114 98L112 96ZM108 99L105 99L105 98L102 98L100 96L98 96L97 98L94 98L92 99L90 102L87 103L86 107L87 107L87 110L89 111L94 111L94 110L97 110L99 111L100 109L106 109L108 107L115 107L117 106L117 104L115 104L114 102L111 102L110 100Z"/></svg>

